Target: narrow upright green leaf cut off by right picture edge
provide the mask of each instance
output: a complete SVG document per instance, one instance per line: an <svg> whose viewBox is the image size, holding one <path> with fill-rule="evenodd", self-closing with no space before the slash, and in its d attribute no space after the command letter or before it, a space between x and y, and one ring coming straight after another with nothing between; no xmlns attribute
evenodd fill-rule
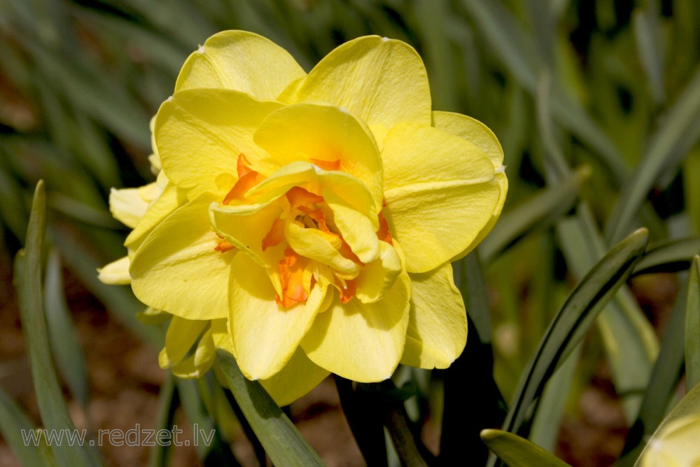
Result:
<svg viewBox="0 0 700 467"><path fill-rule="evenodd" d="M685 387L700 384L700 257L693 258L685 301Z"/></svg>

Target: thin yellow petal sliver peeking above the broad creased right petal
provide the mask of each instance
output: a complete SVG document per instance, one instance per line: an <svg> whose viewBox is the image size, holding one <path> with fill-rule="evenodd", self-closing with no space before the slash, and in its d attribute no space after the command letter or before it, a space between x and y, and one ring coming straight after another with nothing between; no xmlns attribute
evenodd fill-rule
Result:
<svg viewBox="0 0 700 467"><path fill-rule="evenodd" d="M475 118L452 112L433 112L433 126L470 141L491 159L493 167L503 165L503 148L493 132Z"/></svg>

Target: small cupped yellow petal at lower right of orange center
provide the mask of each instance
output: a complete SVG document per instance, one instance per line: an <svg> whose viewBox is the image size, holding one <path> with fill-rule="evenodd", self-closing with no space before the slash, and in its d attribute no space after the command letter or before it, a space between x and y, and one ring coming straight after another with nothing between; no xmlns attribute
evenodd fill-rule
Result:
<svg viewBox="0 0 700 467"><path fill-rule="evenodd" d="M393 246L386 242L379 242L379 246L379 258L365 264L357 278L355 296L363 303L377 302L384 298L402 270L401 258Z"/></svg>

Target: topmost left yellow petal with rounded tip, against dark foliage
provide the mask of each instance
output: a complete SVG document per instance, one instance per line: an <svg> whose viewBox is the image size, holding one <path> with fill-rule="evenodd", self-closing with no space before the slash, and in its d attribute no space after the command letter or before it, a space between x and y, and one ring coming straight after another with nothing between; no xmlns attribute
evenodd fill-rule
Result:
<svg viewBox="0 0 700 467"><path fill-rule="evenodd" d="M292 81L306 76L283 48L258 34L214 34L183 65L175 90L226 88L273 100Z"/></svg>

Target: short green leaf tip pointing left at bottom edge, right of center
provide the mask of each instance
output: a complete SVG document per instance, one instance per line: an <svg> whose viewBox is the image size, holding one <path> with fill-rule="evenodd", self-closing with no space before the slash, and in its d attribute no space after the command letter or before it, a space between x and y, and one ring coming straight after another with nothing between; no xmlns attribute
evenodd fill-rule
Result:
<svg viewBox="0 0 700 467"><path fill-rule="evenodd" d="M481 437L493 454L510 467L570 467L554 454L513 433L487 429Z"/></svg>

